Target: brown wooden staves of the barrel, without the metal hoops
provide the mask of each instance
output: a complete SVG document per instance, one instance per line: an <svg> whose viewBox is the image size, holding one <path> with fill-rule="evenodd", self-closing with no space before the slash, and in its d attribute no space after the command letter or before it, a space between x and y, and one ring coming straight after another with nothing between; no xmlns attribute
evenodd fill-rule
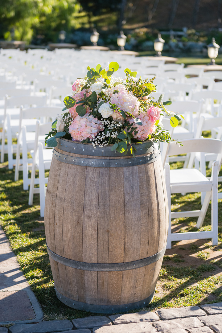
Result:
<svg viewBox="0 0 222 333"><path fill-rule="evenodd" d="M46 195L47 244L59 255L84 262L146 258L165 246L167 207L160 160L119 168L75 166L53 160ZM149 297L162 263L160 259L127 271L94 272L50 261L55 286L64 296L113 306Z"/></svg>

